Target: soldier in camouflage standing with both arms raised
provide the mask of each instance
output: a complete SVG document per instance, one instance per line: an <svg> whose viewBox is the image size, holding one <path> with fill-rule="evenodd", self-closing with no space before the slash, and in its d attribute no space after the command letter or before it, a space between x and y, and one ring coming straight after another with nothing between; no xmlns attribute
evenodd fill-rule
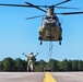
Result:
<svg viewBox="0 0 83 82"><path fill-rule="evenodd" d="M23 52L24 55L24 52ZM27 57L27 71L34 71L34 66L33 62L36 60L36 56L38 55L38 52L34 56L33 52L31 52L28 56L24 55L25 57Z"/></svg>

